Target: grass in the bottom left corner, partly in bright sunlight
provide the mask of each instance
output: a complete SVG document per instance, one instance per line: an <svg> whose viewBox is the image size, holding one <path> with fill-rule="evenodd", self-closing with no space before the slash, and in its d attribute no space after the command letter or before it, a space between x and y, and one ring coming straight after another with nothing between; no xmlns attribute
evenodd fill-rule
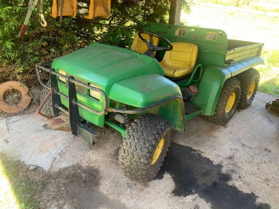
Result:
<svg viewBox="0 0 279 209"><path fill-rule="evenodd" d="M6 181L11 190L3 191L9 188L1 188L1 208L39 208L40 195L48 183L48 173L38 168L30 170L29 167L0 154L1 185L5 185ZM12 195L5 195L7 193Z"/></svg>

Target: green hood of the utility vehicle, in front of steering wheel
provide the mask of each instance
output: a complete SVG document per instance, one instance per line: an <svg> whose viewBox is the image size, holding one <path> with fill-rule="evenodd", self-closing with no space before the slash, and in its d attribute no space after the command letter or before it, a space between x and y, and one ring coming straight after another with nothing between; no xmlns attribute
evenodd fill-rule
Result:
<svg viewBox="0 0 279 209"><path fill-rule="evenodd" d="M55 59L52 67L56 71L59 68L76 78L97 84L106 93L118 81L147 74L164 74L155 58L98 43Z"/></svg>

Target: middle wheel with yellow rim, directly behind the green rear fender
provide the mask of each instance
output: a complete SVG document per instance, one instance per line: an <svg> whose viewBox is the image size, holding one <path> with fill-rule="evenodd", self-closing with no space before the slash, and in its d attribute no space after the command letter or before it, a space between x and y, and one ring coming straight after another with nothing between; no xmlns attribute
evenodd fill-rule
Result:
<svg viewBox="0 0 279 209"><path fill-rule="evenodd" d="M223 85L217 106L212 116L203 116L206 120L226 124L233 116L240 96L240 82L232 77Z"/></svg>

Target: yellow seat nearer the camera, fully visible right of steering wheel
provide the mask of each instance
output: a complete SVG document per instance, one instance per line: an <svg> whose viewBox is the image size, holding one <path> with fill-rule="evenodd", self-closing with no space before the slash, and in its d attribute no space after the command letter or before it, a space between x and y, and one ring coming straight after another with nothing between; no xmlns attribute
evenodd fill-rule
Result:
<svg viewBox="0 0 279 209"><path fill-rule="evenodd" d="M173 49L166 51L160 62L164 75L179 78L194 71L198 56L198 46L186 42L172 43Z"/></svg>

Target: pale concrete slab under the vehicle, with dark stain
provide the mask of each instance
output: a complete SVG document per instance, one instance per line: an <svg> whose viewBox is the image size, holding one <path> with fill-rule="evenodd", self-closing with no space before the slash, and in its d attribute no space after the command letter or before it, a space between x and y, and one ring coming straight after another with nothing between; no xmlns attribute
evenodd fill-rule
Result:
<svg viewBox="0 0 279 209"><path fill-rule="evenodd" d="M35 114L0 118L0 152L50 172L93 166L101 198L94 199L92 187L76 197L78 208L278 208L279 116L264 108L274 99L258 92L226 127L192 119L186 132L173 132L162 169L146 184L120 171L122 138L110 127L96 128L99 138L90 146L70 132L48 129Z"/></svg>

